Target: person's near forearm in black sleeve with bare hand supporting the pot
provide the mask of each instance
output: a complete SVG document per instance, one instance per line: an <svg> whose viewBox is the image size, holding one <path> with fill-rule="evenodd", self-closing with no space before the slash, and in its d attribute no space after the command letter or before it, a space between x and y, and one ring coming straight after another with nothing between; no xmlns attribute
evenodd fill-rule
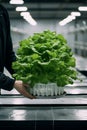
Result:
<svg viewBox="0 0 87 130"><path fill-rule="evenodd" d="M11 91L13 88L15 88L23 96L30 99L35 98L29 92L27 92L26 90L27 87L29 86L27 84L24 84L21 80L12 79L9 76L6 76L2 72L0 72L0 88L1 89Z"/></svg>

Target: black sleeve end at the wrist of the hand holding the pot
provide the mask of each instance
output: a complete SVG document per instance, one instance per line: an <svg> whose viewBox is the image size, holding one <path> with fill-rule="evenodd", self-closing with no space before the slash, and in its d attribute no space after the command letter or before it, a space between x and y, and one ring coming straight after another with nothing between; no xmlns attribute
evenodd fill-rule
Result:
<svg viewBox="0 0 87 130"><path fill-rule="evenodd" d="M15 79L12 79L0 72L0 88L10 91L13 89L14 82Z"/></svg>

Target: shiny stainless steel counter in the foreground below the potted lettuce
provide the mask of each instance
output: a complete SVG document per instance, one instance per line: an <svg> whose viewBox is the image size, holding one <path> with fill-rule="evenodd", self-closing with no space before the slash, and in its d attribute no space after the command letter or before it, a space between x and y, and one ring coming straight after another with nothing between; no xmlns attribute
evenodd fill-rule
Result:
<svg viewBox="0 0 87 130"><path fill-rule="evenodd" d="M66 94L56 99L0 97L0 129L87 129L87 94Z"/></svg>

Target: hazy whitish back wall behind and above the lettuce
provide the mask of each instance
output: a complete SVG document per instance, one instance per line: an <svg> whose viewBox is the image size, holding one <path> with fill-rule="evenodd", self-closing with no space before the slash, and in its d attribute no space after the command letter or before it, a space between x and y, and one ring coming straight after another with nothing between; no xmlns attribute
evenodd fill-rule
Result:
<svg viewBox="0 0 87 130"><path fill-rule="evenodd" d="M30 35L33 35L34 33L42 32L48 29L63 34L68 44L72 48L73 52L75 52L76 42L78 43L82 42L81 45L84 46L84 44L87 42L87 31L75 31L76 28L79 29L80 27L83 26L82 20L73 21L71 23L68 23L66 26L59 26L58 22L59 22L58 20L53 20L53 19L46 19L46 20L42 19L42 20L37 20L36 26L32 26L29 23L27 23L25 20L11 20L11 27L18 30L18 32L11 31L12 41L15 50L19 45L19 41L28 38ZM80 46L78 45L78 47ZM79 54L80 53L82 52L79 51ZM80 55L84 55L84 54L80 54Z"/></svg>

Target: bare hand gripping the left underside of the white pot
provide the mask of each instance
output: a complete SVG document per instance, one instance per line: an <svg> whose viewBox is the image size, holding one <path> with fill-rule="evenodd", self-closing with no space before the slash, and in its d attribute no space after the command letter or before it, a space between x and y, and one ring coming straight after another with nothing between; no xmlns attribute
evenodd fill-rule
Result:
<svg viewBox="0 0 87 130"><path fill-rule="evenodd" d="M24 84L21 80L16 80L14 83L14 88L22 95L27 98L34 99L35 97L27 92L26 88L29 87L28 84Z"/></svg>

